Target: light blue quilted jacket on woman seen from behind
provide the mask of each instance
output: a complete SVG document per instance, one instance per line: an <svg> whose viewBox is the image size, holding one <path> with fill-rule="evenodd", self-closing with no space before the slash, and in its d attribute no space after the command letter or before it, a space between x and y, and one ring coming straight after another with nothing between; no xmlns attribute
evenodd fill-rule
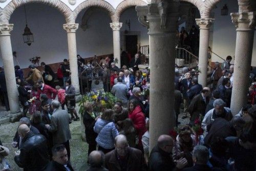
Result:
<svg viewBox="0 0 256 171"><path fill-rule="evenodd" d="M99 146L105 149L114 148L114 142L116 136L118 136L118 131L116 129L115 123L112 121L106 121L103 119L98 119L94 126L94 132L98 134L96 142Z"/></svg>

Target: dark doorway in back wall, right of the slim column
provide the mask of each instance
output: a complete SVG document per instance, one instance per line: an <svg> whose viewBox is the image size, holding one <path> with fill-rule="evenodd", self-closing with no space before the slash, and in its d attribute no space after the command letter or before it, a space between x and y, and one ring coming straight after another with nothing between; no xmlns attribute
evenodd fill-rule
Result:
<svg viewBox="0 0 256 171"><path fill-rule="evenodd" d="M125 35L125 49L132 56L138 52L138 35Z"/></svg>

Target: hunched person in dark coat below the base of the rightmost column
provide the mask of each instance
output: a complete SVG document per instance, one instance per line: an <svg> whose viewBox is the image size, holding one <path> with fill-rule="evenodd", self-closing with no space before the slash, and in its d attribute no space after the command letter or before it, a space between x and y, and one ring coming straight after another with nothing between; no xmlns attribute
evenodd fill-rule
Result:
<svg viewBox="0 0 256 171"><path fill-rule="evenodd" d="M237 132L241 132L244 125L245 121L242 117L233 117L231 121L227 121L224 118L216 118L214 122L207 126L208 134L204 138L204 143L210 145L216 137L236 137Z"/></svg>

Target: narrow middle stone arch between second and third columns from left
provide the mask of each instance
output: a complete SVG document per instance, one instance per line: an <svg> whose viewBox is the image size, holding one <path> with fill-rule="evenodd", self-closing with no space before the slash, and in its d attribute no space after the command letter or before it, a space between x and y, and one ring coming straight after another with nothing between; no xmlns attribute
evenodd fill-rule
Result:
<svg viewBox="0 0 256 171"><path fill-rule="evenodd" d="M84 8L90 7L99 7L107 10L111 17L111 20L114 20L115 9L112 7L112 5L102 0L87 0L79 4L78 7L76 7L76 9L73 11L74 18L76 19L79 12L81 12Z"/></svg>

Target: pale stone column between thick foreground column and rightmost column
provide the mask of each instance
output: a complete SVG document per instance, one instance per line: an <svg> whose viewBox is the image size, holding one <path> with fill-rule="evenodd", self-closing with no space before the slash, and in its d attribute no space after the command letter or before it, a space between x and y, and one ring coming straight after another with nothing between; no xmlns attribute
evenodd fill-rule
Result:
<svg viewBox="0 0 256 171"><path fill-rule="evenodd" d="M203 87L207 86L207 62L208 62L208 47L209 47L209 28L214 21L213 18L197 18L197 25L200 27L199 40L199 61L198 68L201 73L198 76L198 82Z"/></svg>

